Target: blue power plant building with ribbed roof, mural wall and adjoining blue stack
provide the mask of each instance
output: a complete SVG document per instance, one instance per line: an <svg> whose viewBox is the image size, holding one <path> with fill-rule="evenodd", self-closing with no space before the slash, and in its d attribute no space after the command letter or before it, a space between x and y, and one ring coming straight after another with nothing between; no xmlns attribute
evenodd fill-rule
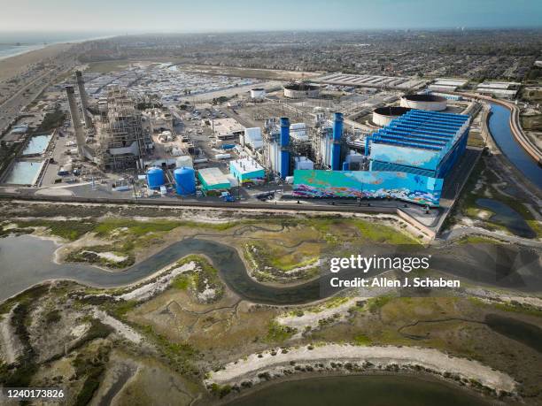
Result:
<svg viewBox="0 0 542 406"><path fill-rule="evenodd" d="M470 118L437 111L406 111L366 137L368 171L352 171L352 154L340 162L343 120L336 113L333 129L324 132L320 152L329 170L294 170L298 197L396 198L436 207L446 175L467 146ZM353 157L360 157L354 154Z"/></svg>

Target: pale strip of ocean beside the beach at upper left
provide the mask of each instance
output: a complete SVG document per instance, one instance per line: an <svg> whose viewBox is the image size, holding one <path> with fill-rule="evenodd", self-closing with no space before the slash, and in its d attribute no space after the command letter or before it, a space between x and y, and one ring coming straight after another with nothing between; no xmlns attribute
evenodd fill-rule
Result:
<svg viewBox="0 0 542 406"><path fill-rule="evenodd" d="M111 37L112 33L100 32L2 32L0 31L0 60L6 57L40 50L47 45L61 42L81 42Z"/></svg>

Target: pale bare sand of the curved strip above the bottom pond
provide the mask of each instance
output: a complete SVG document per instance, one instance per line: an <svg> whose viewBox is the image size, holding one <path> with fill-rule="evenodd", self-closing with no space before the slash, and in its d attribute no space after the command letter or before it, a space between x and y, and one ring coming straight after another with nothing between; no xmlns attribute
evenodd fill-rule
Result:
<svg viewBox="0 0 542 406"><path fill-rule="evenodd" d="M259 381L260 372L281 372L278 368L292 369L294 363L329 363L371 362L376 365L398 364L399 366L420 365L434 372L451 372L462 378L476 379L485 387L496 391L513 392L515 380L506 373L493 371L492 368L477 361L448 356L437 349L421 349L415 347L360 347L352 345L327 344L314 349L308 347L288 349L287 353L278 351L273 356L271 352L240 359L235 363L226 364L218 372L210 372L207 384L217 383L240 384L244 380Z"/></svg>

